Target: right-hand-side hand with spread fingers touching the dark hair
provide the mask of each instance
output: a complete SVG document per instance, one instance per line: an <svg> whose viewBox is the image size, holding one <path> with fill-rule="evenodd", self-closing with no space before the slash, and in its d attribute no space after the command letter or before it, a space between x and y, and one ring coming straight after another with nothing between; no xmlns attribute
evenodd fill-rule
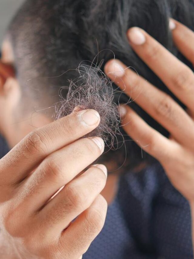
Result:
<svg viewBox="0 0 194 259"><path fill-rule="evenodd" d="M170 22L173 25L173 21ZM172 35L180 52L194 64L194 33L174 21ZM173 27L175 27L173 26ZM158 121L170 139L151 128L130 107L120 107L124 130L163 166L172 184L194 203L194 73L140 28L127 32L137 55L188 108L139 77L119 60L110 60L105 72L122 90Z"/></svg>

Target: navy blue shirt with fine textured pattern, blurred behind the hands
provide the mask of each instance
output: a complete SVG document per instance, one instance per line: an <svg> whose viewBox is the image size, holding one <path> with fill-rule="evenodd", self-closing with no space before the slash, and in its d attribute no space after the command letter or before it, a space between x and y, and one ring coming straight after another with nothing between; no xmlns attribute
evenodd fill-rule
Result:
<svg viewBox="0 0 194 259"><path fill-rule="evenodd" d="M7 151L0 138L0 157ZM121 177L102 232L83 255L127 258L193 259L189 204L159 164Z"/></svg>

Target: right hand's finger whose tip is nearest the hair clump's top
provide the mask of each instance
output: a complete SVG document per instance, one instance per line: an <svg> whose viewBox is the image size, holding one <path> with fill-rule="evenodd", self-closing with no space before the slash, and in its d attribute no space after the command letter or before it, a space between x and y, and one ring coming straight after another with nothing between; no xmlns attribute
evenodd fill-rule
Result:
<svg viewBox="0 0 194 259"><path fill-rule="evenodd" d="M194 123L186 111L169 95L118 60L106 63L105 73L142 109L165 127L179 143L191 146L194 141Z"/></svg>

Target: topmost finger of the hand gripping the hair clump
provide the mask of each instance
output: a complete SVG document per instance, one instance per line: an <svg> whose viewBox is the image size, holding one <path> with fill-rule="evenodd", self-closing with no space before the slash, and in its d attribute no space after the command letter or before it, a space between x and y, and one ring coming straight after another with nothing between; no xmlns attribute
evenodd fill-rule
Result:
<svg viewBox="0 0 194 259"><path fill-rule="evenodd" d="M97 111L84 110L32 131L0 160L0 183L22 181L45 157L88 134L99 122Z"/></svg>

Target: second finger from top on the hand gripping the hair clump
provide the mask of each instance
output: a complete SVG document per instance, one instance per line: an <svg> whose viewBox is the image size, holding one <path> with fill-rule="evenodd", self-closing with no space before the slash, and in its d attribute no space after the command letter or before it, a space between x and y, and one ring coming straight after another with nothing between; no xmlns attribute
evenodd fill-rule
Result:
<svg viewBox="0 0 194 259"><path fill-rule="evenodd" d="M92 164L104 151L99 138L82 138L51 155L38 166L20 187L22 208L39 210L62 187ZM86 159L87 158L87 159ZM31 204L30 208L28 204Z"/></svg>

